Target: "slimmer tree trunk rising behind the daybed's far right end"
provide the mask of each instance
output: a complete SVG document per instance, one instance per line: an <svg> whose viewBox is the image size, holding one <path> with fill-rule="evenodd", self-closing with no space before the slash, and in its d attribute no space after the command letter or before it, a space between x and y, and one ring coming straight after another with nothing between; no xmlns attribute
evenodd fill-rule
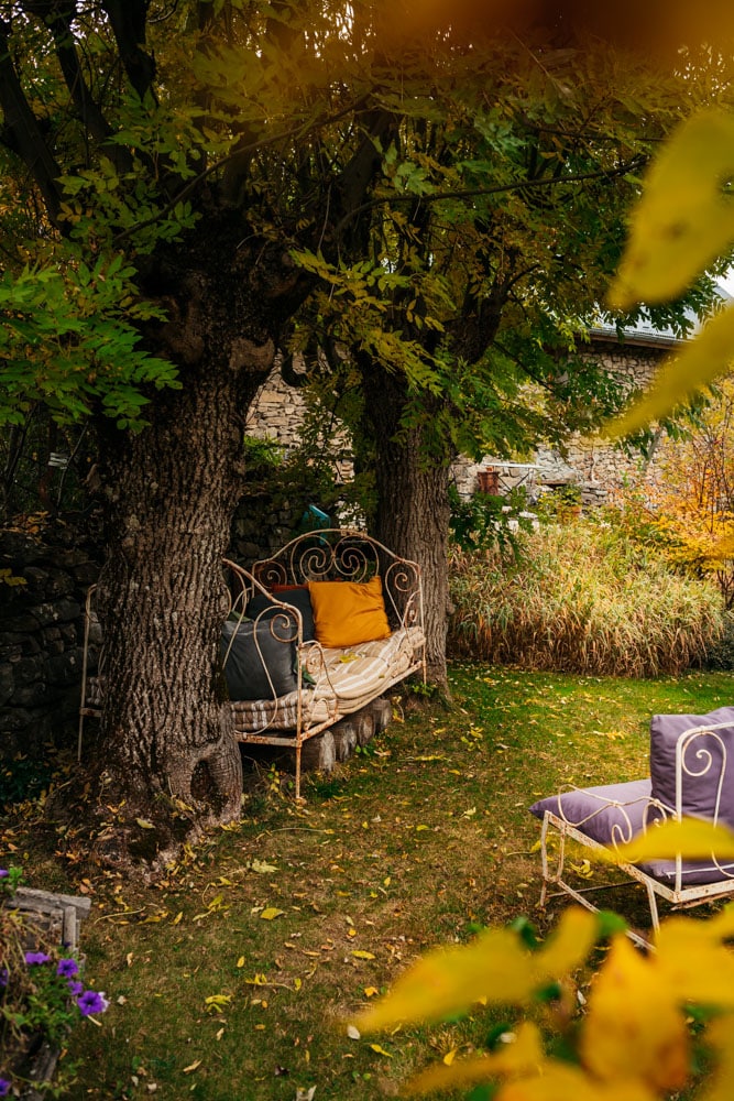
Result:
<svg viewBox="0 0 734 1101"><path fill-rule="evenodd" d="M363 379L365 412L376 440L375 535L391 550L420 565L428 678L447 691L448 465L427 457L420 426L401 427L407 403L404 378L372 364Z"/></svg>

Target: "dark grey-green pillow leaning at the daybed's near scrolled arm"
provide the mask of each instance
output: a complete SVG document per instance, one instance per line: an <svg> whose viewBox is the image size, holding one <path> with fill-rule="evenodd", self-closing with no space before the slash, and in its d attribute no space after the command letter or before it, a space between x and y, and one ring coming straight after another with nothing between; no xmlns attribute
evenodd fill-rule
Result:
<svg viewBox="0 0 734 1101"><path fill-rule="evenodd" d="M295 641L283 641L295 636L294 615L266 615L258 623L228 620L222 626L220 648L229 698L274 699L295 691L297 647Z"/></svg>

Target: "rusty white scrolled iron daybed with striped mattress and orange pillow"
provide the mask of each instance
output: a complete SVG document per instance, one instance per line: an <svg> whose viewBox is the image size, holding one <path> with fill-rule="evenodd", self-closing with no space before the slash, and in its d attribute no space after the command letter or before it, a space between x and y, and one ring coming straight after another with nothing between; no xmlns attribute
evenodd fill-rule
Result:
<svg viewBox="0 0 734 1101"><path fill-rule="evenodd" d="M300 796L304 745L372 705L414 673L425 680L420 567L363 532L299 535L251 569L223 562L229 613L221 662L234 735L295 755ZM79 752L86 716L100 713L103 645L97 674L94 593L87 600Z"/></svg>

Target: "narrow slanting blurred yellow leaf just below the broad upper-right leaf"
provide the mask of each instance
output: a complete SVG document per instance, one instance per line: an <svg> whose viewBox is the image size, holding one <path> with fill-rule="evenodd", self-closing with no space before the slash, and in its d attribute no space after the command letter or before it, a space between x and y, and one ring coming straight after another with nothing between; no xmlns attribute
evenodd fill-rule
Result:
<svg viewBox="0 0 734 1101"><path fill-rule="evenodd" d="M734 362L734 308L712 317L694 340L667 359L645 394L603 429L611 438L627 436L667 416Z"/></svg>

